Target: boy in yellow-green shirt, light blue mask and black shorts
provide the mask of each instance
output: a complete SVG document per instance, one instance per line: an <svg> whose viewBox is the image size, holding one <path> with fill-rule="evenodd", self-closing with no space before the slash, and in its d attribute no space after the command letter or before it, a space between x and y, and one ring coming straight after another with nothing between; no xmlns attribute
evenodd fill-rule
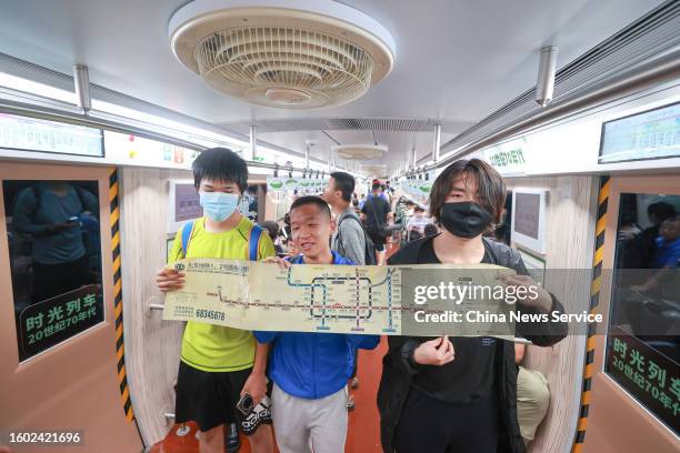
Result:
<svg viewBox="0 0 680 453"><path fill-rule="evenodd" d="M203 151L192 168L204 217L193 222L184 244L182 230L177 233L169 263L182 258L248 260L253 224L238 211L248 187L246 161L230 150L213 148ZM271 239L261 234L257 259L273 255ZM156 281L161 291L174 291L182 288L184 274L162 269ZM267 351L268 345L258 344L251 332L187 323L177 379L176 422L197 422L201 453L223 453L224 426L243 422L236 405L244 393L252 396L254 405L266 395ZM254 453L273 451L268 425L257 429L249 441Z"/></svg>

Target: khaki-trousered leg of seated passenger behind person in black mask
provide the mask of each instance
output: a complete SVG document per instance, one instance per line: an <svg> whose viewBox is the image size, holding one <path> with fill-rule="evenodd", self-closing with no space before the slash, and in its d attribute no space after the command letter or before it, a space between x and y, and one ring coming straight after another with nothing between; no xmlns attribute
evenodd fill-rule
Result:
<svg viewBox="0 0 680 453"><path fill-rule="evenodd" d="M517 421L524 445L533 441L550 404L548 380L537 370L527 370L520 363L524 359L526 345L514 343L514 363L517 363Z"/></svg>

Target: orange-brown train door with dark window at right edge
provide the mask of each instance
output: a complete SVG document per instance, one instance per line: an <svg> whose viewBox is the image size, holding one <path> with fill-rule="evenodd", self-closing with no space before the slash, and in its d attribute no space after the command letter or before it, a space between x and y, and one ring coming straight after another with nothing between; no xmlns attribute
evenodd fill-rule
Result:
<svg viewBox="0 0 680 453"><path fill-rule="evenodd" d="M598 250L606 335L594 342L583 450L677 452L680 175L614 177L601 202L607 194Z"/></svg>

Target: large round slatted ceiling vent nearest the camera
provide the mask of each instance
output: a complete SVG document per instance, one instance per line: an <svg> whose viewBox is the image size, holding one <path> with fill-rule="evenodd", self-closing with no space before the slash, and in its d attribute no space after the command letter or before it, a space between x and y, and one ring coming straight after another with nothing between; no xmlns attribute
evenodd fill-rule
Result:
<svg viewBox="0 0 680 453"><path fill-rule="evenodd" d="M206 83L266 107L348 103L394 63L384 27L331 0L196 0L168 33L174 56Z"/></svg>

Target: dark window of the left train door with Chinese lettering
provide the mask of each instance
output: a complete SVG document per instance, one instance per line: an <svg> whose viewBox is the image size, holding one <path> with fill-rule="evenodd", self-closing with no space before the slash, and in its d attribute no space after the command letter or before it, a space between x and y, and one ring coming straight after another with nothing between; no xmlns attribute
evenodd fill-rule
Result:
<svg viewBox="0 0 680 453"><path fill-rule="evenodd" d="M2 181L19 360L103 321L97 181Z"/></svg>

